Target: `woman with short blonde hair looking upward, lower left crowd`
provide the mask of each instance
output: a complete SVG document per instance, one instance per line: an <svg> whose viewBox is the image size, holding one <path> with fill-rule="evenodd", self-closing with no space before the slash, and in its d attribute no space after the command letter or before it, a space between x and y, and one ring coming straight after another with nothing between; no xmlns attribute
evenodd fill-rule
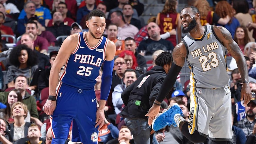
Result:
<svg viewBox="0 0 256 144"><path fill-rule="evenodd" d="M28 114L28 108L27 105L22 102L15 102L12 105L11 112L12 117L14 118L14 123L10 124L11 131L9 134L9 141L15 142L28 135L28 129L31 123L24 121Z"/></svg>

